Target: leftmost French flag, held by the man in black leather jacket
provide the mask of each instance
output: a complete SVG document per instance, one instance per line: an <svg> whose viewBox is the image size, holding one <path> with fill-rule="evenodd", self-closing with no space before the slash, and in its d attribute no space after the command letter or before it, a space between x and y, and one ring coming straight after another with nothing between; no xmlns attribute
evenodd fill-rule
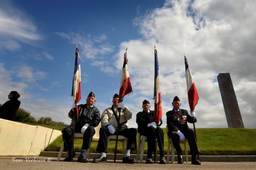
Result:
<svg viewBox="0 0 256 170"><path fill-rule="evenodd" d="M71 96L74 97L74 103L76 104L76 110L78 110L77 103L81 99L81 68L80 68L79 50L78 50L77 45L76 45L76 59L75 59L74 77L73 77ZM76 112L76 116L78 118L78 112Z"/></svg>

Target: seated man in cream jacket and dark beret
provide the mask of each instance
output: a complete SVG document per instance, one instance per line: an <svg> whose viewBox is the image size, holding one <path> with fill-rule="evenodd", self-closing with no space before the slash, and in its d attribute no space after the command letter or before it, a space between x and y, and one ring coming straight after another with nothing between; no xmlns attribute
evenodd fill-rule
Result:
<svg viewBox="0 0 256 170"><path fill-rule="evenodd" d="M100 128L100 139L97 146L97 151L100 153L98 158L93 160L94 163L106 162L106 152L108 145L108 136L116 135L118 126L118 116L119 112L117 108L121 108L120 112L120 126L118 135L122 135L128 138L125 156L123 158L123 163L133 164L134 158L130 157L130 151L137 148L136 136L137 130L135 128L129 128L127 123L128 120L132 118L132 112L124 106L122 102L118 103L119 96L114 94L112 99L112 107L106 108L101 115L101 128Z"/></svg>

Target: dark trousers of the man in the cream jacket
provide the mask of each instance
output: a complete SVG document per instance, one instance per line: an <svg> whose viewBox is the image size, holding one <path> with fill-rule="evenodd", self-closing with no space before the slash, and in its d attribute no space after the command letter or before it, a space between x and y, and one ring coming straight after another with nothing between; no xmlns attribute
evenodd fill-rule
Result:
<svg viewBox="0 0 256 170"><path fill-rule="evenodd" d="M108 131L108 128L106 126L102 126L100 128L100 138L99 138L98 146L96 149L99 153L107 152L108 136L110 135L116 135L116 132L114 134L111 134ZM118 132L118 135L122 135L128 138L126 150L137 149L137 143L136 143L137 130L135 128L126 128L124 130L121 130Z"/></svg>

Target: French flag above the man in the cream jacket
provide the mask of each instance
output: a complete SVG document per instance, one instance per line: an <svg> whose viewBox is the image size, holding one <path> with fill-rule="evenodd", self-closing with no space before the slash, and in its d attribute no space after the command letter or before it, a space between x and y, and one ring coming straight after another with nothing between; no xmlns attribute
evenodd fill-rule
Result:
<svg viewBox="0 0 256 170"><path fill-rule="evenodd" d="M127 50L127 48L126 48ZM120 81L120 90L119 90L119 102L124 100L124 96L126 94L130 94L132 92L132 85L130 81L130 76L128 72L128 59L126 52L124 53L124 64L122 69L121 81Z"/></svg>

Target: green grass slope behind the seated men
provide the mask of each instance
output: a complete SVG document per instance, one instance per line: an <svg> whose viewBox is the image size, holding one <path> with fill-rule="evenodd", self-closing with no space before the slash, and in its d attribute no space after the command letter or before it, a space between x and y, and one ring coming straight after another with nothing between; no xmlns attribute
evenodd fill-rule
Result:
<svg viewBox="0 0 256 170"><path fill-rule="evenodd" d="M41 126L41 125L40 125ZM45 125L45 127L48 127ZM62 130L64 127L50 126L57 130ZM164 150L167 152L167 136L166 129L164 131ZM196 129L198 146L200 155L256 155L256 129L244 128L198 128ZM52 142L45 151L60 151L62 145L62 136L59 136ZM137 135L138 142L138 135ZM98 142L91 143L91 153L97 153L96 147ZM80 152L82 140L74 141L74 150ZM184 150L183 145L181 145ZM188 147L188 154L190 149ZM147 144L145 144L144 154L147 153ZM108 153L114 153L115 142L110 142L108 145ZM118 142L117 153L122 153L122 143ZM136 154L137 150L132 151Z"/></svg>

